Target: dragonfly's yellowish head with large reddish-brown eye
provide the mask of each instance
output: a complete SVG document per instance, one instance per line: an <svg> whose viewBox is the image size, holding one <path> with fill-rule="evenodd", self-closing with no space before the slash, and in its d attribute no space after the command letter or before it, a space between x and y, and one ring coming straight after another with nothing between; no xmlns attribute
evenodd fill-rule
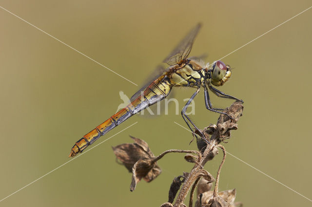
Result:
<svg viewBox="0 0 312 207"><path fill-rule="evenodd" d="M222 86L231 77L230 66L225 65L220 60L216 61L211 71L210 82L214 86Z"/></svg>

